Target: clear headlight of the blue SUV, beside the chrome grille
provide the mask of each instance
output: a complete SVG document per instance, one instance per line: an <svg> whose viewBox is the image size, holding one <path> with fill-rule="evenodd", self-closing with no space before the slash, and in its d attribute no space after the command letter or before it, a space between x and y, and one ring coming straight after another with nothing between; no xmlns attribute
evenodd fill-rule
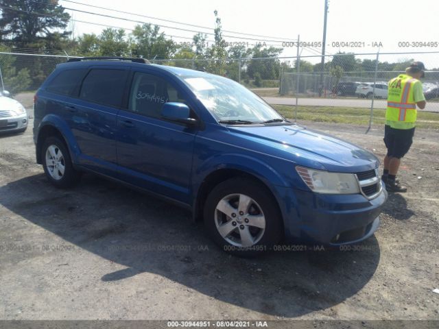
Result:
<svg viewBox="0 0 439 329"><path fill-rule="evenodd" d="M297 173L312 191L324 194L357 194L359 186L353 173L330 173L296 167Z"/></svg>

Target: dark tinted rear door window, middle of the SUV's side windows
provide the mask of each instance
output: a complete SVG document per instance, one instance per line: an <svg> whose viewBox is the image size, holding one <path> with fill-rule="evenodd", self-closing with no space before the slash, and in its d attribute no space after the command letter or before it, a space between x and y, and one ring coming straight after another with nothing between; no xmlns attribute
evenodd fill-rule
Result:
<svg viewBox="0 0 439 329"><path fill-rule="evenodd" d="M127 71L92 69L82 82L80 98L118 108L122 103Z"/></svg>

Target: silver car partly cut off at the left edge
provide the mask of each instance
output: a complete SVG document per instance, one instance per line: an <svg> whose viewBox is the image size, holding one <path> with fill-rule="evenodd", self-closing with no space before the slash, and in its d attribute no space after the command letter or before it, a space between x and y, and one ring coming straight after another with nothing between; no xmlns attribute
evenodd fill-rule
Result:
<svg viewBox="0 0 439 329"><path fill-rule="evenodd" d="M24 132L29 117L19 101L12 99L8 91L0 90L0 133Z"/></svg>

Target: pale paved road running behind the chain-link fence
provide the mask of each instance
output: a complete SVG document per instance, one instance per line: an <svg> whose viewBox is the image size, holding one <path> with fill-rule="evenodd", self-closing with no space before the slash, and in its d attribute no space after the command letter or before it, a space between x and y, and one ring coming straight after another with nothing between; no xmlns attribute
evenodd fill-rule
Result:
<svg viewBox="0 0 439 329"><path fill-rule="evenodd" d="M296 105L295 98L289 97L262 97L270 104ZM353 107L370 108L370 99L336 99L336 98L299 98L298 105L306 106L334 106L334 107ZM385 108L384 99L375 99L374 108ZM439 103L428 103L425 111L439 112Z"/></svg>

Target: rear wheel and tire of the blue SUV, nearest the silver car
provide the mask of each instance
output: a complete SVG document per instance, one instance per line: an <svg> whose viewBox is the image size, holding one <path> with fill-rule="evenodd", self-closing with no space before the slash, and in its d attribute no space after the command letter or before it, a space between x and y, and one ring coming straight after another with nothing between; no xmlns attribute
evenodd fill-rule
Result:
<svg viewBox="0 0 439 329"><path fill-rule="evenodd" d="M67 146L56 136L45 139L41 159L47 179L58 188L69 188L80 181L81 173L73 168Z"/></svg>

